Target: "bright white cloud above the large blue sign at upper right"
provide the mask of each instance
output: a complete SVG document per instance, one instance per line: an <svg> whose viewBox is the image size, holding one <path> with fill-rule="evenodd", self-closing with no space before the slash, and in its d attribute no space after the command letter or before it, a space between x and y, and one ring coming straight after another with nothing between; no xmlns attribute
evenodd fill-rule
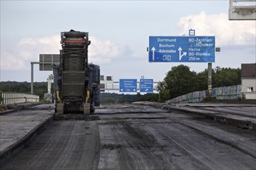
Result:
<svg viewBox="0 0 256 170"><path fill-rule="evenodd" d="M226 13L188 15L178 21L180 35L195 29L195 36L216 36L216 46L255 46L255 21L229 21Z"/></svg>

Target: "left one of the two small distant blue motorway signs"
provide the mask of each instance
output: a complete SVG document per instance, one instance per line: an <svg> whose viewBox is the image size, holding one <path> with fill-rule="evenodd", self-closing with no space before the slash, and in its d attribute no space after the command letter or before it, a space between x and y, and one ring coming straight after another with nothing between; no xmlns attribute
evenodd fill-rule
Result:
<svg viewBox="0 0 256 170"><path fill-rule="evenodd" d="M137 92L137 79L120 79L119 92Z"/></svg>

